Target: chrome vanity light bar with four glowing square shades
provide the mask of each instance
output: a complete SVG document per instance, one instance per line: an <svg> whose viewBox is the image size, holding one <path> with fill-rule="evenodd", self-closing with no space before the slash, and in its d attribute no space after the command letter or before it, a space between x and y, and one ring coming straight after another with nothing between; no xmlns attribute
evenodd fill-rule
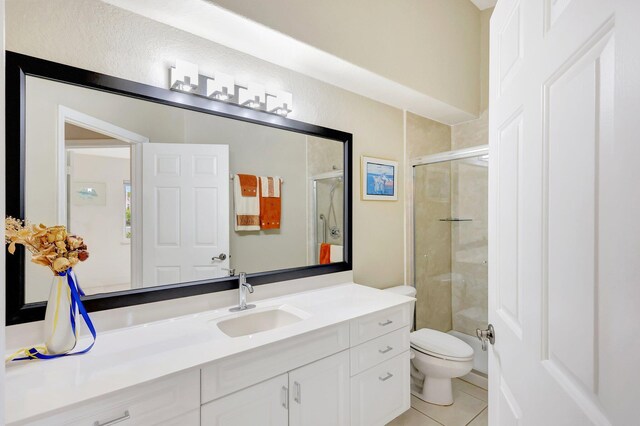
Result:
<svg viewBox="0 0 640 426"><path fill-rule="evenodd" d="M284 90L265 90L262 84L237 84L234 77L216 72L213 77L200 75L198 66L187 61L176 60L169 70L169 88L177 92L202 96L215 101L234 103L240 106L286 117L293 111L293 95ZM202 83L202 87L199 83Z"/></svg>

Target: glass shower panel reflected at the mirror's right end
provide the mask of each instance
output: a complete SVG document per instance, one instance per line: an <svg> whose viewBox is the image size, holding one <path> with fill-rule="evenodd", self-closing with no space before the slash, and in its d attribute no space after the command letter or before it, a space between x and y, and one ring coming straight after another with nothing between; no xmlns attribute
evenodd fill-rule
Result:
<svg viewBox="0 0 640 426"><path fill-rule="evenodd" d="M313 180L314 192L314 264L320 260L322 243L343 246L343 205L344 185L342 172L330 176L316 177ZM342 259L331 259L332 262Z"/></svg>

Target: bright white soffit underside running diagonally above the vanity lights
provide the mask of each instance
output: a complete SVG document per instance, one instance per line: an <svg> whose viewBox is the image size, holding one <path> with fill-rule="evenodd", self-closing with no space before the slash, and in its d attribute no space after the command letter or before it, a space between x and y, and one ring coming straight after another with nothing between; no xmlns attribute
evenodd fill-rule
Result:
<svg viewBox="0 0 640 426"><path fill-rule="evenodd" d="M202 0L102 0L345 90L457 124L474 115ZM295 94L294 94L295 96Z"/></svg>

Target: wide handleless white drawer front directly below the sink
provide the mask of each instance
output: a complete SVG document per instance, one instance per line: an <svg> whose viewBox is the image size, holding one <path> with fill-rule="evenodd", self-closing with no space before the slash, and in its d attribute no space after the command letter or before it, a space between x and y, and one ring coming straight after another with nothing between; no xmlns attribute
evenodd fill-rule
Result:
<svg viewBox="0 0 640 426"><path fill-rule="evenodd" d="M349 347L349 324L292 337L202 368L202 403L286 373Z"/></svg>

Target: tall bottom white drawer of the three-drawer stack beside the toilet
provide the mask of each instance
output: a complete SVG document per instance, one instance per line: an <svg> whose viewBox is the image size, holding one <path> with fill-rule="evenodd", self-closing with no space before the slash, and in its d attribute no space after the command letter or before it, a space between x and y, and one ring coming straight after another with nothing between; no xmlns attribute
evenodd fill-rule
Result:
<svg viewBox="0 0 640 426"><path fill-rule="evenodd" d="M351 378L351 424L385 425L409 409L409 351Z"/></svg>

